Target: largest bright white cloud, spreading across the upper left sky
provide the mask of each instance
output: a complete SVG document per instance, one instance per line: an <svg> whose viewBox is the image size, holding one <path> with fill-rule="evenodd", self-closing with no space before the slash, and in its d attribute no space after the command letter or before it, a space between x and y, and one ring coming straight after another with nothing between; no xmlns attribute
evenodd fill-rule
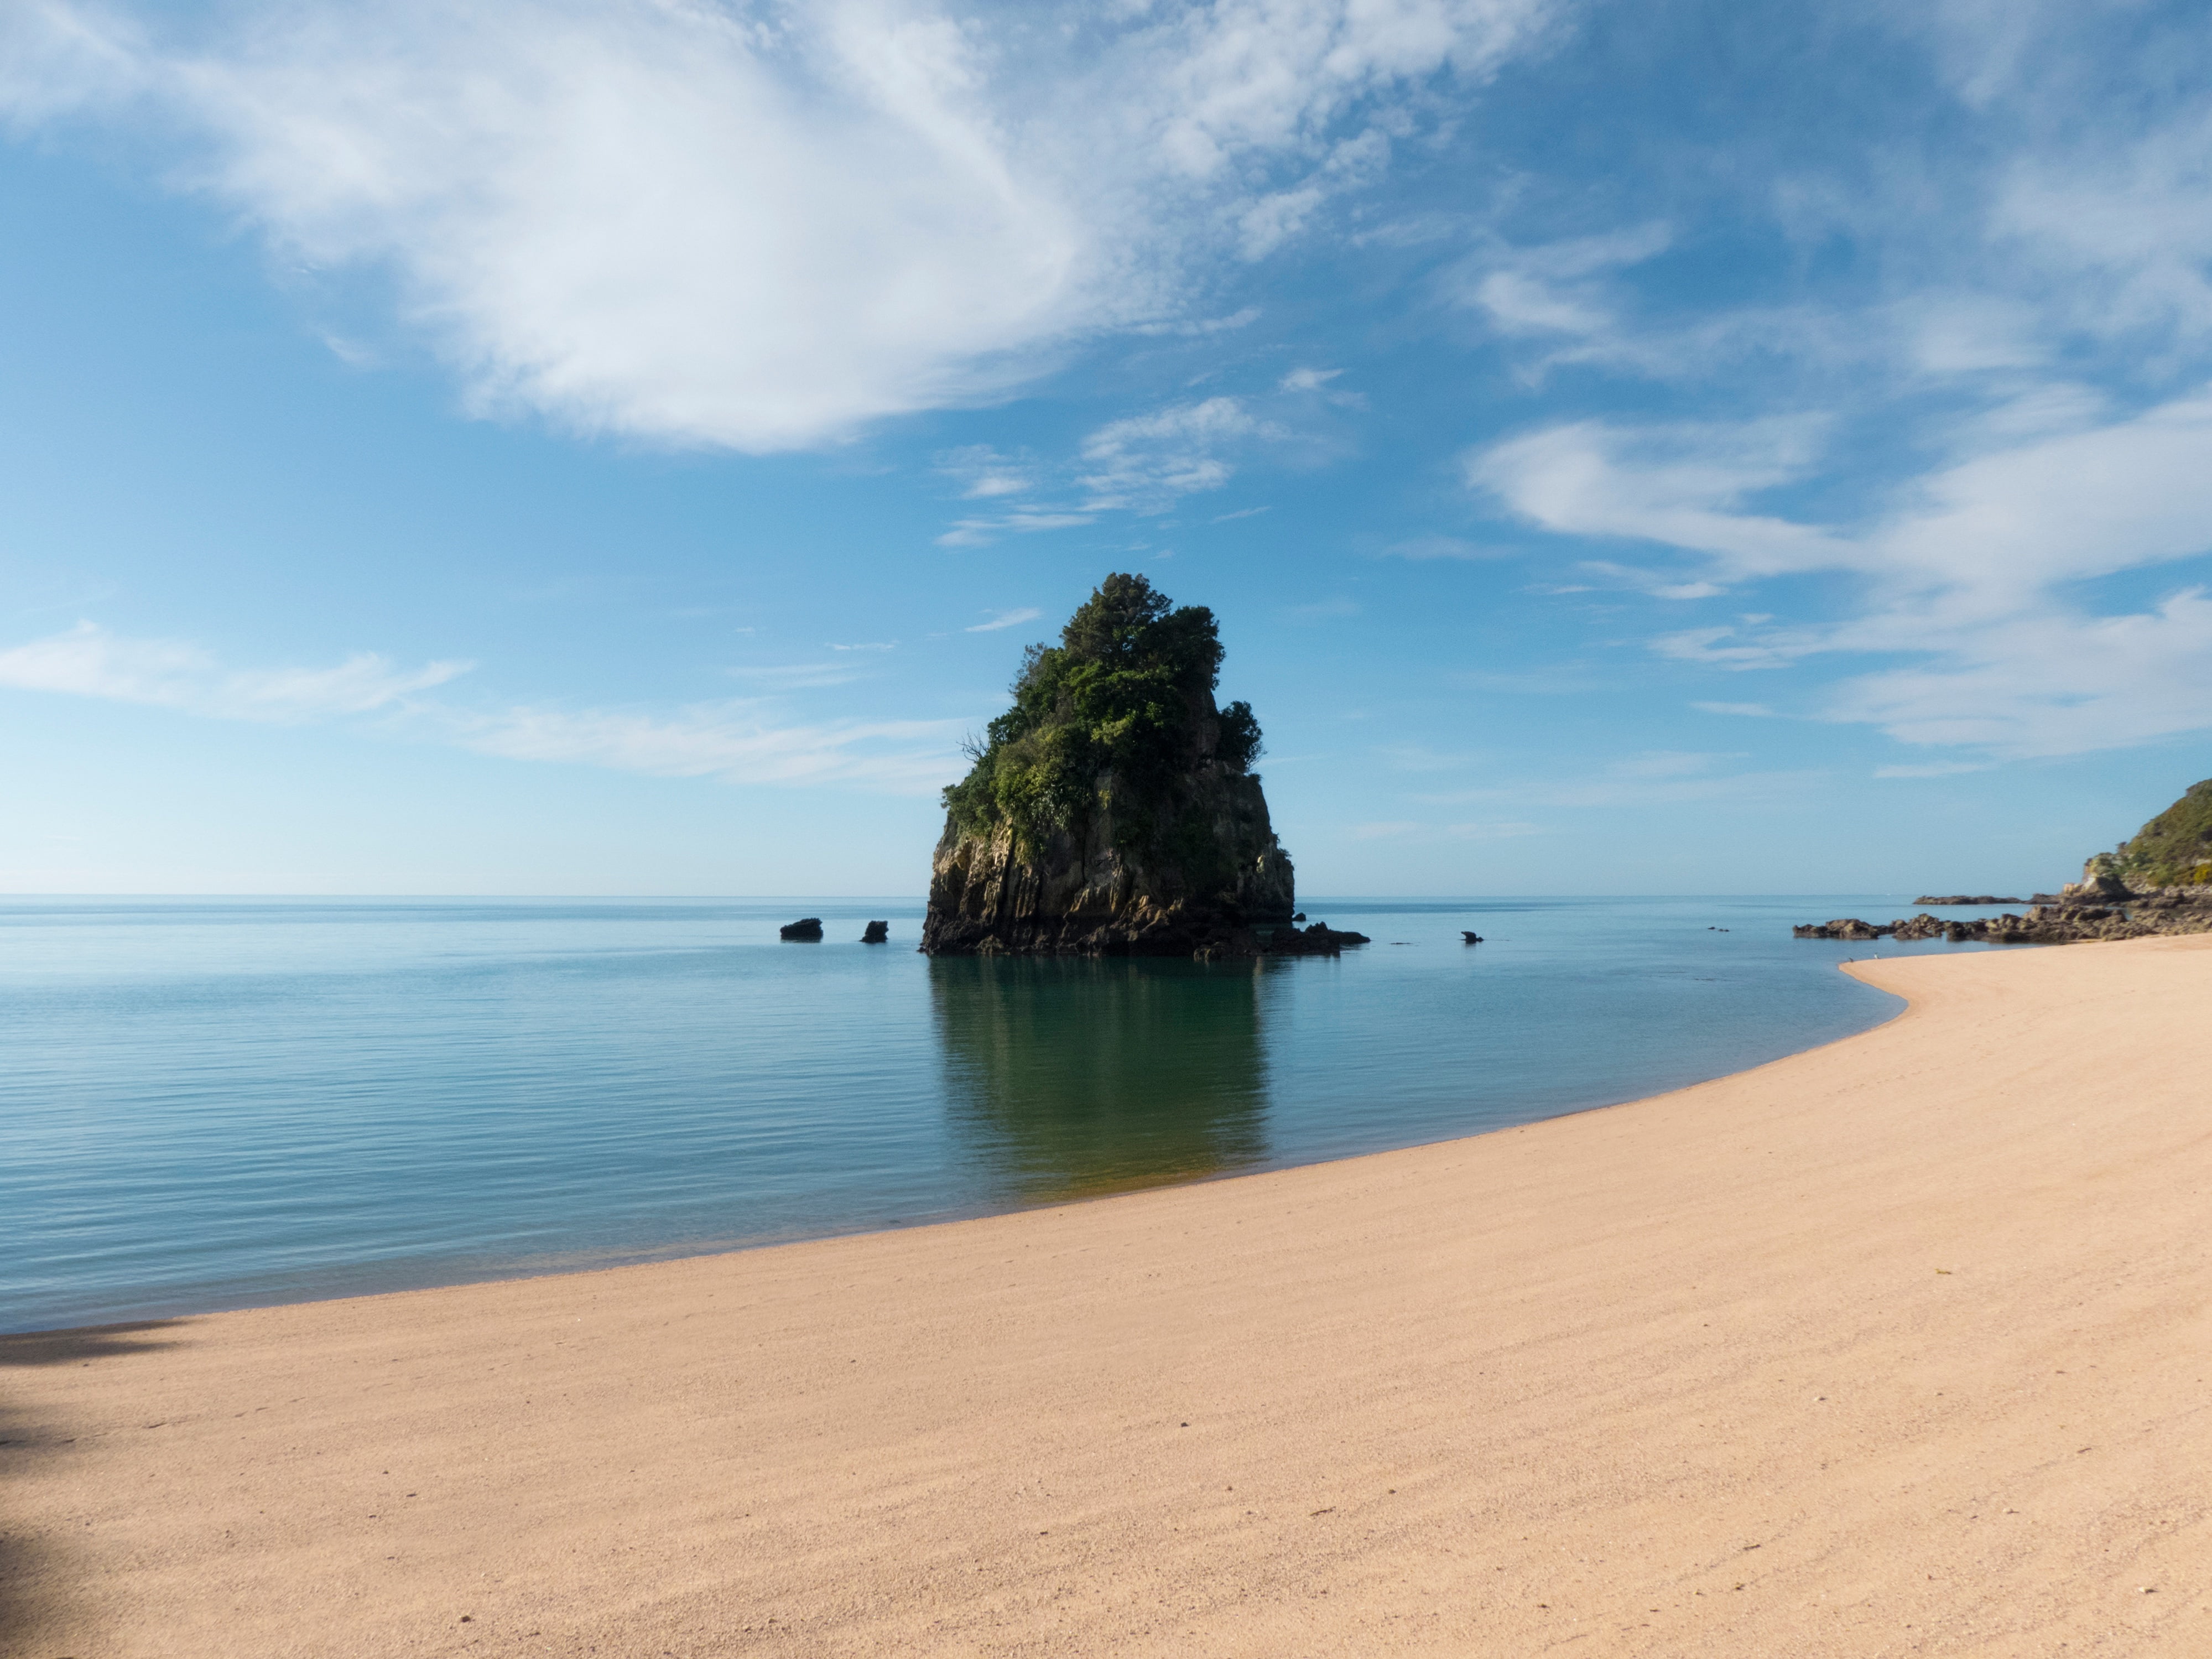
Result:
<svg viewBox="0 0 2212 1659"><path fill-rule="evenodd" d="M1183 325L1186 270L1369 184L1548 4L248 0L177 44L31 0L0 113L159 124L285 261L389 274L480 409L779 451Z"/></svg>

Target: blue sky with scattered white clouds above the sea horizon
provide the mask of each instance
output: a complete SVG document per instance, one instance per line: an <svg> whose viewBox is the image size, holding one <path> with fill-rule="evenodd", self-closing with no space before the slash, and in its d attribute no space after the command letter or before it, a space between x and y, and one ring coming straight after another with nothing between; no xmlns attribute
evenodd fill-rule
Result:
<svg viewBox="0 0 2212 1659"><path fill-rule="evenodd" d="M0 891L918 896L1108 571L1303 894L2212 774L2212 29L0 0Z"/></svg>

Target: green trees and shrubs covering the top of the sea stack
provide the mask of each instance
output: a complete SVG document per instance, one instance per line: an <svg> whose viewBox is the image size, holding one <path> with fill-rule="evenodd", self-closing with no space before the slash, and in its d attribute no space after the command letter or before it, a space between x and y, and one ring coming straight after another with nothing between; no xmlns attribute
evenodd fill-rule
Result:
<svg viewBox="0 0 2212 1659"><path fill-rule="evenodd" d="M1093 812L1115 807L1117 836L1150 838L1194 763L1243 774L1259 757L1252 706L1214 712L1219 677L1212 611L1172 608L1141 575L1108 575L1057 646L1024 653L1013 708L971 745L969 774L945 790L953 830L987 836L1009 825L1029 854L1055 830L1079 832Z"/></svg>

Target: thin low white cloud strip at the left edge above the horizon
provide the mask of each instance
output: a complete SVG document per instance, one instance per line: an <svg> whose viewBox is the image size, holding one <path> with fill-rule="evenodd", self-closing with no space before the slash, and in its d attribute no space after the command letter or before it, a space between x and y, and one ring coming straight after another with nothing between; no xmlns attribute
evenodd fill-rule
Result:
<svg viewBox="0 0 2212 1659"><path fill-rule="evenodd" d="M155 703L190 714L252 721L312 721L369 714L469 672L465 661L398 668L356 653L332 668L221 668L199 646L126 639L93 622L0 650L0 686L69 692L119 703Z"/></svg>

